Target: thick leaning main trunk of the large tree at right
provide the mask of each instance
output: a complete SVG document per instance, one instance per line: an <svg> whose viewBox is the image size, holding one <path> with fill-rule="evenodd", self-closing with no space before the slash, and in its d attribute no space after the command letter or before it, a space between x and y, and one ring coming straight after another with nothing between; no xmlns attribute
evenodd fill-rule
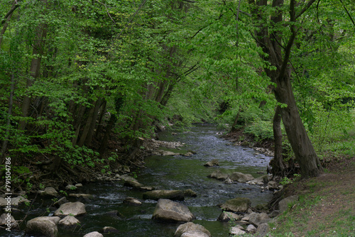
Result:
<svg viewBox="0 0 355 237"><path fill-rule="evenodd" d="M315 0L310 0L309 3L300 11L304 13L308 7L312 5ZM270 16L263 11L264 7L268 5L266 0L249 0L253 5L253 15L256 22L262 22L260 19L268 19ZM283 21L282 11L284 0L273 0L272 7L278 9L275 15L271 16L271 21L274 26L278 26ZM296 160L300 163L300 170L302 177L315 177L322 171L320 159L315 153L315 149L307 136L305 127L303 126L300 114L296 106L295 97L290 81L290 69L288 60L290 59L291 49L296 37L296 29L294 22L296 21L295 0L290 0L290 37L282 40L283 33L273 26L266 26L263 23L256 23L258 31L255 32L256 43L263 49L267 56L262 55L264 60L270 62L276 70L265 69L266 74L270 77L271 82L276 84L273 89L275 99L280 106L280 114L282 116L283 124L288 136L290 145L295 153ZM300 14L300 13L299 13ZM268 28L270 27L270 28ZM271 33L270 31L273 31ZM281 47L280 43L285 42L285 46ZM282 50L284 49L284 50Z"/></svg>

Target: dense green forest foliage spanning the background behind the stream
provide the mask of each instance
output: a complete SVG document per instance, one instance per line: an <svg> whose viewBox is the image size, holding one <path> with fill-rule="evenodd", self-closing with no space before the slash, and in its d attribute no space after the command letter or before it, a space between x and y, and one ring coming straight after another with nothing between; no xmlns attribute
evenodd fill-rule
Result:
<svg viewBox="0 0 355 237"><path fill-rule="evenodd" d="M317 154L354 155L354 2L309 1L297 21L293 0L258 9L271 18L256 18L251 2L1 0L1 161L35 158L46 172L93 166L115 157L110 140L134 159L170 122L272 139L275 106L286 105L273 95L260 24L280 35L282 52L297 31L287 65ZM297 1L297 13L307 3Z"/></svg>

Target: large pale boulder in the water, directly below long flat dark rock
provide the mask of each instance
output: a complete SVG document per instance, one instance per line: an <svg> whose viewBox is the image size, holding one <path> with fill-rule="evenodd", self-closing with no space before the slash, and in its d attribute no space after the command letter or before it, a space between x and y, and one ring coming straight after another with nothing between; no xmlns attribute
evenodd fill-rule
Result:
<svg viewBox="0 0 355 237"><path fill-rule="evenodd" d="M168 222L188 222L195 219L184 204L169 199L159 199L152 216L153 220Z"/></svg>

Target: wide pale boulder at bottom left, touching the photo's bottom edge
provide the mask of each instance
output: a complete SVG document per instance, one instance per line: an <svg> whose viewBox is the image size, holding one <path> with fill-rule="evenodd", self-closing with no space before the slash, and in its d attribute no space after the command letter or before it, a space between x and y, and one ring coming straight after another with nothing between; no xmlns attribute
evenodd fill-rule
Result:
<svg viewBox="0 0 355 237"><path fill-rule="evenodd" d="M58 236L58 216L40 216L27 221L26 233L41 234L47 237Z"/></svg>

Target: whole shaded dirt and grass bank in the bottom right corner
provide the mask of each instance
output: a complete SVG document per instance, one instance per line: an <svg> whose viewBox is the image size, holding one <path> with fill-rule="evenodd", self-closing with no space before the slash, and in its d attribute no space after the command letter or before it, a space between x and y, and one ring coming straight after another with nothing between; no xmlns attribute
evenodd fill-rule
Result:
<svg viewBox="0 0 355 237"><path fill-rule="evenodd" d="M300 202L272 224L273 236L355 236L355 158L328 162L320 177L295 181Z"/></svg>

